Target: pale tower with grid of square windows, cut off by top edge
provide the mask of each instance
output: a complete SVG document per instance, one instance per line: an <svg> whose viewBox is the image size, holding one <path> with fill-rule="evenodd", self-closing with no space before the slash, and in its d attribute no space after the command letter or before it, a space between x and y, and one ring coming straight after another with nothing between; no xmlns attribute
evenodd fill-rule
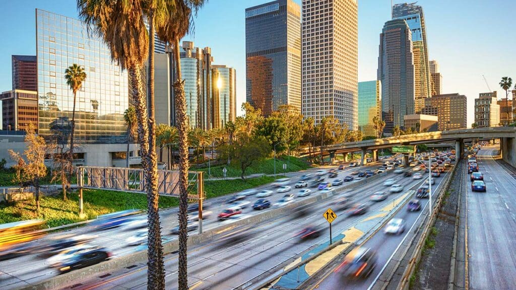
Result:
<svg viewBox="0 0 516 290"><path fill-rule="evenodd" d="M302 114L357 130L357 0L303 0L302 20Z"/></svg>

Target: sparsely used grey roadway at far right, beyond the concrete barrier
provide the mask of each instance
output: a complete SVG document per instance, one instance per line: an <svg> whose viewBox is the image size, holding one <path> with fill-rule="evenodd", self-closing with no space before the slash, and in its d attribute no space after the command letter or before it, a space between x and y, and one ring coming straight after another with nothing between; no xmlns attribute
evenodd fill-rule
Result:
<svg viewBox="0 0 516 290"><path fill-rule="evenodd" d="M516 223L511 211L516 205L516 186L509 179L511 176L491 159L493 150L479 153L487 192L473 192L471 182L465 182L469 285L473 289L514 289Z"/></svg>

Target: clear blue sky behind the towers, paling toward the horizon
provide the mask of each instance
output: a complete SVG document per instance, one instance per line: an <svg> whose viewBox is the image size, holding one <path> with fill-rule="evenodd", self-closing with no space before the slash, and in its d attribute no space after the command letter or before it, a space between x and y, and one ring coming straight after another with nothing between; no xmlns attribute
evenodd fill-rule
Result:
<svg viewBox="0 0 516 290"><path fill-rule="evenodd" d="M295 0L298 4L301 0ZM199 11L195 34L187 40L212 47L216 64L237 71L237 106L245 101L245 8L266 0L209 0ZM396 0L394 3L401 3ZM412 1L408 1L412 2ZM473 99L498 90L502 76L516 79L516 24L514 0L421 0L425 11L429 57L436 59L443 75L443 93L468 98L468 124L473 120ZM73 0L1 1L0 90L10 90L11 55L36 54L35 9L77 18ZM390 19L390 0L359 0L359 81L376 79L379 34Z"/></svg>

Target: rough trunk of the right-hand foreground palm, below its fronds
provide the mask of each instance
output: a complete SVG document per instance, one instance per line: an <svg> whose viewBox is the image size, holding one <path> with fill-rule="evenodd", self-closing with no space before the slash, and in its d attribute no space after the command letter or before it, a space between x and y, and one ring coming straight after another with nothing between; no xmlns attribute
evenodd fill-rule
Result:
<svg viewBox="0 0 516 290"><path fill-rule="evenodd" d="M188 207L188 127L186 117L185 87L181 77L181 60L179 57L179 38L174 41L174 59L176 65L176 82L174 96L176 118L179 135L179 259L178 259L178 288L188 289L187 261L187 207Z"/></svg>

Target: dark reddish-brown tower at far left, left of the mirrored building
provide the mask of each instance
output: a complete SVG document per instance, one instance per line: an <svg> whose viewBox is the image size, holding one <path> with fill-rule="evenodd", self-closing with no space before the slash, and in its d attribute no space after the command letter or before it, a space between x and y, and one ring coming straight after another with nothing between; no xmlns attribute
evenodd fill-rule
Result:
<svg viewBox="0 0 516 290"><path fill-rule="evenodd" d="M12 60L12 89L13 90L38 90L36 76L35 55L13 55Z"/></svg>

